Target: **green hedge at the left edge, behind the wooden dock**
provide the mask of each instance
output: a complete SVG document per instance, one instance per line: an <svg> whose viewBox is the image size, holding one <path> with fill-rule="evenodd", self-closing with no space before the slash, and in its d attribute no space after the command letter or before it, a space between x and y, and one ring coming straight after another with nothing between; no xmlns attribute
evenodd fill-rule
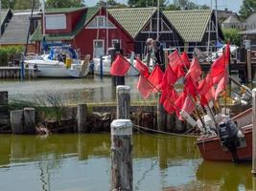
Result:
<svg viewBox="0 0 256 191"><path fill-rule="evenodd" d="M23 46L4 46L0 47L0 66L7 66L9 61L19 59L24 52Z"/></svg>

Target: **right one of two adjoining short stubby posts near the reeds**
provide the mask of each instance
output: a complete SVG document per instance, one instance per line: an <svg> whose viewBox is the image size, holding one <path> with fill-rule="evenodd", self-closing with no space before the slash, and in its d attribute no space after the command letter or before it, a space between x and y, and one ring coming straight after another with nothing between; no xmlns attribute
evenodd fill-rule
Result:
<svg viewBox="0 0 256 191"><path fill-rule="evenodd" d="M24 133L35 134L35 108L24 108Z"/></svg>

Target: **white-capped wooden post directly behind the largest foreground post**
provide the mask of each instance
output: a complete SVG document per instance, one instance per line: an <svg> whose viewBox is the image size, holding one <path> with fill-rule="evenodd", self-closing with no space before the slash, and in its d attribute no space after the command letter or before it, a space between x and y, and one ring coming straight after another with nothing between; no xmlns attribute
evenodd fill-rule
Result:
<svg viewBox="0 0 256 191"><path fill-rule="evenodd" d="M130 109L129 91L130 91L129 86L116 87L117 118L129 118L129 109Z"/></svg>

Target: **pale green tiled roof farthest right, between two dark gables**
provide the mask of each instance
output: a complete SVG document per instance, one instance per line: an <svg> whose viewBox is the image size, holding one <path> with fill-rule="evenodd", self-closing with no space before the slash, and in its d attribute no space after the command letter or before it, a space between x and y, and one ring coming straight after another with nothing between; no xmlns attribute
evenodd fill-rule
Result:
<svg viewBox="0 0 256 191"><path fill-rule="evenodd" d="M185 42L200 42L211 19L211 10L163 11Z"/></svg>

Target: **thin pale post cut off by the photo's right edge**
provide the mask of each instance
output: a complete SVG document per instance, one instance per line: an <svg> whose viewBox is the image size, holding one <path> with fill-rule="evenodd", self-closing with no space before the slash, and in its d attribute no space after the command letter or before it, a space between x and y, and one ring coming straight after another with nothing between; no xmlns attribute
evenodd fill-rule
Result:
<svg viewBox="0 0 256 191"><path fill-rule="evenodd" d="M256 88L252 90L252 170L256 175Z"/></svg>

